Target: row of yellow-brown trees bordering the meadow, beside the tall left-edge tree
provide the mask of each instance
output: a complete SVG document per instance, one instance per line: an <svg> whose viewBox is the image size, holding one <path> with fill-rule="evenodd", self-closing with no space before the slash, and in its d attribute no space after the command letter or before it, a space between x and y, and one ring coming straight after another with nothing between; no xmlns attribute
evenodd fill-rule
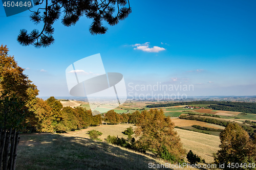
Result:
<svg viewBox="0 0 256 170"><path fill-rule="evenodd" d="M37 98L26 117L27 131L66 132L101 124L100 114L82 107L63 107L53 96L46 101Z"/></svg>

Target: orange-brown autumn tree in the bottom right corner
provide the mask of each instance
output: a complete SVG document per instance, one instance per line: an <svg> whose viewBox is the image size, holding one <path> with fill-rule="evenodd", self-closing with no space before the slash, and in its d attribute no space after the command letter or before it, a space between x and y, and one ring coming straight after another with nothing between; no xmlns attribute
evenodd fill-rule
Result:
<svg viewBox="0 0 256 170"><path fill-rule="evenodd" d="M223 164L223 169L230 169L228 163L255 163L256 146L248 133L237 123L229 123L224 131L220 133L220 150L215 156L215 162ZM236 169L246 169L236 167ZM247 168L251 169L251 168Z"/></svg>

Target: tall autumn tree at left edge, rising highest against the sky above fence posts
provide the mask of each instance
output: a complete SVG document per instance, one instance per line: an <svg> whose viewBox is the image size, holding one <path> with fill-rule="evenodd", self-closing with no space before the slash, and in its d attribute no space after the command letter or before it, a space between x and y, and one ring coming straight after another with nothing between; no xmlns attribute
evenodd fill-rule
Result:
<svg viewBox="0 0 256 170"><path fill-rule="evenodd" d="M0 47L0 127L20 127L36 100L37 87L23 73L7 46Z"/></svg>

